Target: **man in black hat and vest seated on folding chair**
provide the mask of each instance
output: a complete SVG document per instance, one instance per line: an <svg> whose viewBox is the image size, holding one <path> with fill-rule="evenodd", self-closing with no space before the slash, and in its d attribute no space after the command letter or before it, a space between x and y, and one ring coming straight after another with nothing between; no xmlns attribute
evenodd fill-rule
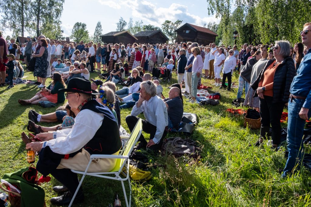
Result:
<svg viewBox="0 0 311 207"><path fill-rule="evenodd" d="M64 186L54 187L56 192L66 192L62 196L51 199L52 204L67 205L79 185L78 176L71 169L84 171L92 154L118 155L121 139L117 120L109 108L104 107L91 95L91 82L86 79L73 78L66 93L68 104L80 111L71 129L63 129L53 133L41 133L36 137L43 142L31 142L26 149L39 152L36 169L43 176L53 175ZM88 172L109 172L116 164L116 159L93 160ZM84 200L80 188L75 203Z"/></svg>

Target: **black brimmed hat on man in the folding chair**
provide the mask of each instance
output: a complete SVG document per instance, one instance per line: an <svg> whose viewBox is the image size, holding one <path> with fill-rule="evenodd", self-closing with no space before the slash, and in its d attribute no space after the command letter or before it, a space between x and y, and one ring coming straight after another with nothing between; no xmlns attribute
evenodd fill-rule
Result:
<svg viewBox="0 0 311 207"><path fill-rule="evenodd" d="M99 95L97 91L91 89L91 81L83 78L70 79L67 88L59 89L59 91Z"/></svg>

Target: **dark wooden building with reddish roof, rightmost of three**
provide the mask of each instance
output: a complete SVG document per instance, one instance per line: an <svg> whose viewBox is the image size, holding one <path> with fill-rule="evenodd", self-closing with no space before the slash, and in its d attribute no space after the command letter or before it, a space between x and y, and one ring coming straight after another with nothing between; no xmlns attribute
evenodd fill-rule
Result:
<svg viewBox="0 0 311 207"><path fill-rule="evenodd" d="M199 43L203 45L208 45L209 43L213 43L218 36L215 32L205 27L199 27L196 25L192 25L186 23L176 29L177 32L177 42L178 43Z"/></svg>

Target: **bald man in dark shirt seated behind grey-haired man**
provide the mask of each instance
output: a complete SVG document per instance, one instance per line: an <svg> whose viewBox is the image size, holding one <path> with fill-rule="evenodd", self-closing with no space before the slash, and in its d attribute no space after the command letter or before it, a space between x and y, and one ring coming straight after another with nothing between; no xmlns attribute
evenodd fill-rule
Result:
<svg viewBox="0 0 311 207"><path fill-rule="evenodd" d="M183 118L183 101L180 99L179 93L179 88L172 87L169 90L169 97L163 99L167 107L168 128L177 127Z"/></svg>

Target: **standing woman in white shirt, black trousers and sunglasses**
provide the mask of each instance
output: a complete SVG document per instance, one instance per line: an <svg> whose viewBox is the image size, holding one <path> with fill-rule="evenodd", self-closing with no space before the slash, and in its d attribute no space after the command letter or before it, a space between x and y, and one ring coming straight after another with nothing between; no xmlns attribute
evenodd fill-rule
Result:
<svg viewBox="0 0 311 207"><path fill-rule="evenodd" d="M222 69L223 75L222 75L222 84L220 88L222 89L227 88L225 83L226 83L226 78L228 78L228 89L227 90L230 91L231 90L231 76L236 66L236 57L233 55L234 54L233 49L230 49L228 53L229 53L229 56L226 57L225 62L224 62L224 68Z"/></svg>

